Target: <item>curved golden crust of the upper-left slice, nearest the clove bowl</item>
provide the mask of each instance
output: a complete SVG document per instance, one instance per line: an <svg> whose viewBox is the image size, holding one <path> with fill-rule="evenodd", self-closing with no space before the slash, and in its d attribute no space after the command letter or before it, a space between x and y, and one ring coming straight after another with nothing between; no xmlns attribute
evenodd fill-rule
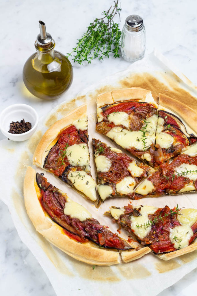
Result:
<svg viewBox="0 0 197 296"><path fill-rule="evenodd" d="M56 139L58 134L64 128L70 126L74 120L81 119L87 114L87 106L82 105L70 113L64 118L56 121L43 135L42 139L38 143L33 155L33 164L42 168L45 157L47 155L46 150L51 149L50 144ZM55 143L54 143L55 144ZM53 144L52 144L53 146Z"/></svg>

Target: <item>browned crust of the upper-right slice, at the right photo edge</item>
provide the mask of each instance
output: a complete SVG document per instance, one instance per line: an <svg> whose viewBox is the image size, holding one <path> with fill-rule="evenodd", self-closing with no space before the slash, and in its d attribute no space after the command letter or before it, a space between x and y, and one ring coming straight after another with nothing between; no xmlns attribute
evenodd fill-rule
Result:
<svg viewBox="0 0 197 296"><path fill-rule="evenodd" d="M187 123L191 129L193 129L194 131L196 130L197 107L196 110L193 110L189 106L164 94L159 94L159 105L176 112L180 119L183 120L183 122L185 121L185 123Z"/></svg>

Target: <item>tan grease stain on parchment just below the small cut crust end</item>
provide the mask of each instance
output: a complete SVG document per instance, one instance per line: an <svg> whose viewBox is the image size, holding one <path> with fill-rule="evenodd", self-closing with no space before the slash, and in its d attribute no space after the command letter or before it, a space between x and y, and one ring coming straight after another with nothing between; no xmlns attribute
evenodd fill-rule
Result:
<svg viewBox="0 0 197 296"><path fill-rule="evenodd" d="M148 271L148 269L136 262L120 265L117 267L117 269L126 279L144 279L148 276L151 276L151 272Z"/></svg>

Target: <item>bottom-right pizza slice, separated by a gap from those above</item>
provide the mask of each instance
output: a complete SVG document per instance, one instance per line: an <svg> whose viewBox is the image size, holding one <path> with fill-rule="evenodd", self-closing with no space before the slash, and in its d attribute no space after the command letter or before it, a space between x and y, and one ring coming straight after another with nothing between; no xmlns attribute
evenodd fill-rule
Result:
<svg viewBox="0 0 197 296"><path fill-rule="evenodd" d="M120 227L164 260L197 249L197 210L152 206L112 207L106 212ZM172 252L172 253L171 253Z"/></svg>

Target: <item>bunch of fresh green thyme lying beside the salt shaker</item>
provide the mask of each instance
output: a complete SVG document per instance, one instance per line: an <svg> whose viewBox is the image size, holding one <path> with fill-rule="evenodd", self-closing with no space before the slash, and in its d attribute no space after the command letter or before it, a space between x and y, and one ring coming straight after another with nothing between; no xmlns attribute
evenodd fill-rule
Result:
<svg viewBox="0 0 197 296"><path fill-rule="evenodd" d="M121 8L118 7L118 1L114 1L113 7L102 12L103 17L91 22L86 33L77 40L76 47L67 54L73 57L74 62L80 65L85 61L91 63L95 58L99 60L103 60L103 57L109 58L110 53L113 53L115 58L120 57L121 30L113 20L116 14L120 17ZM72 55L73 53L76 55Z"/></svg>

